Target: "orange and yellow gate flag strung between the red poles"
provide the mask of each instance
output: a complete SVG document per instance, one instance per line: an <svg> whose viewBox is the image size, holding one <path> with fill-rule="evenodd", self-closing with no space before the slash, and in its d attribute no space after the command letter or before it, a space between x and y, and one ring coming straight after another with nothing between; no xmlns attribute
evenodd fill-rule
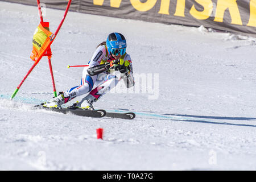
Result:
<svg viewBox="0 0 256 182"><path fill-rule="evenodd" d="M35 62L40 61L43 56L51 58L52 52L49 44L53 39L54 34L49 31L49 22L40 22L33 36L33 49L30 58Z"/></svg>

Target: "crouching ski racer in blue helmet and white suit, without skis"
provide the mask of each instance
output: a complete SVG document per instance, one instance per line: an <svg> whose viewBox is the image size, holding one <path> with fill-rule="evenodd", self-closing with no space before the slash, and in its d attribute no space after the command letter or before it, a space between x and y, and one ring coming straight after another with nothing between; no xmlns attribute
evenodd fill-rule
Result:
<svg viewBox="0 0 256 182"><path fill-rule="evenodd" d="M126 53L126 39L117 32L109 34L106 42L102 42L93 53L89 67L82 71L81 84L43 104L44 107L61 108L61 105L77 96L89 93L81 102L69 108L94 110L93 103L108 93L123 79L127 88L134 86L131 57Z"/></svg>

